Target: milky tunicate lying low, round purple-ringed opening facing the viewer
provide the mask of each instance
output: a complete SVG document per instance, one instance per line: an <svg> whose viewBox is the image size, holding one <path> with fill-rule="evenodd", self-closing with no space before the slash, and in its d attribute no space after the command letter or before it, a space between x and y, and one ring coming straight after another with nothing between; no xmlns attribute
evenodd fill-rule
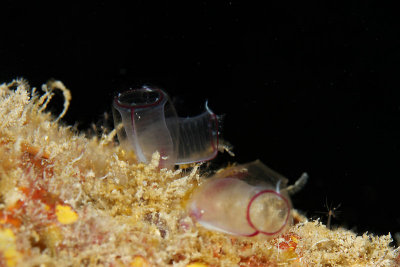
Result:
<svg viewBox="0 0 400 267"><path fill-rule="evenodd" d="M260 161L229 168L192 195L190 215L204 227L233 235L268 237L291 224L287 179Z"/></svg>

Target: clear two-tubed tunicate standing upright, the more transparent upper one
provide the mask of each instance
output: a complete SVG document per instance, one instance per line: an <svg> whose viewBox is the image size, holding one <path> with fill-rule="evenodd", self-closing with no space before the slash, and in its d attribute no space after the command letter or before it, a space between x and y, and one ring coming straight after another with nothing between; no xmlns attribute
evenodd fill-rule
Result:
<svg viewBox="0 0 400 267"><path fill-rule="evenodd" d="M133 149L139 162L148 163L154 152L160 167L207 161L218 152L218 119L207 107L195 117L179 118L168 95L150 87L129 90L113 101L114 124L124 147Z"/></svg>

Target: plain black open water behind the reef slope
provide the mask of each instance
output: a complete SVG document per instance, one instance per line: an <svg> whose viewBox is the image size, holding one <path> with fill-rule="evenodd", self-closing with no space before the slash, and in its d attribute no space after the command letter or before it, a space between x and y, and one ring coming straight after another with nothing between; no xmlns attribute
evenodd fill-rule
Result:
<svg viewBox="0 0 400 267"><path fill-rule="evenodd" d="M55 2L55 1L53 1ZM151 83L195 115L225 114L224 138L293 182L308 217L400 231L400 20L374 1L3 1L0 82L49 78L72 91L65 123L86 129L117 91Z"/></svg>

